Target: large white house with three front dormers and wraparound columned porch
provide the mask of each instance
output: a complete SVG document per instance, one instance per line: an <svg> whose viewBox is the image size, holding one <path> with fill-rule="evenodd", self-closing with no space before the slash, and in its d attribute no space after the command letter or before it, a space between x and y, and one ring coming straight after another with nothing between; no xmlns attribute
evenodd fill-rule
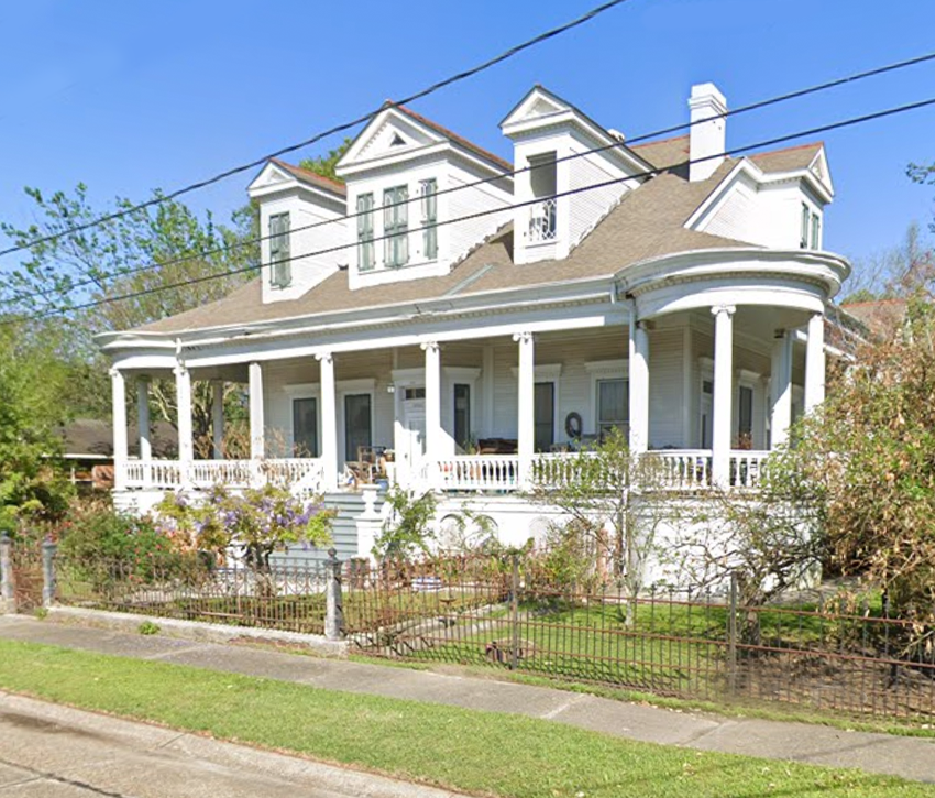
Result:
<svg viewBox="0 0 935 798"><path fill-rule="evenodd" d="M343 183L270 161L249 187L261 276L98 337L116 500L266 474L371 516L356 490L385 477L524 540L548 515L521 496L531 474L612 427L674 492L755 488L824 398L826 309L849 265L822 249L822 143L724 157L724 96L695 86L689 108L689 134L629 146L536 86L499 123L510 163L388 103ZM127 384L145 407L155 375L177 385L172 460L128 448ZM193 381L216 385L218 452L223 383L249 386L250 460L195 459ZM352 529L340 544L369 546Z"/></svg>

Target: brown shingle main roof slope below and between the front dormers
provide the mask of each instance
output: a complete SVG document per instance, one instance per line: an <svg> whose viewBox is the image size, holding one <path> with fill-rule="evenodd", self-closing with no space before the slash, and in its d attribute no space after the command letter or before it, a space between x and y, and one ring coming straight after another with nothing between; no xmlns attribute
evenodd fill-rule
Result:
<svg viewBox="0 0 935 798"><path fill-rule="evenodd" d="M258 280L228 297L140 328L150 332L184 330L280 318L314 316L544 283L610 276L627 265L675 252L748 248L734 239L683 227L692 211L736 165L727 160L706 181L689 183L662 174L629 192L594 230L563 260L517 266L513 262L513 230L504 227L460 261L449 274L351 291L346 271L332 274L301 297L263 304ZM463 285L468 278L470 283Z"/></svg>

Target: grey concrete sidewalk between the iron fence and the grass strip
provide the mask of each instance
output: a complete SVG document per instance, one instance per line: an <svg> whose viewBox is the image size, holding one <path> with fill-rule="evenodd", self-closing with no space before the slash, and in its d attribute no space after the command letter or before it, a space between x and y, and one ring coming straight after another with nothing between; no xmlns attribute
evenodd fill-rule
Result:
<svg viewBox="0 0 935 798"><path fill-rule="evenodd" d="M679 712L564 690L0 616L0 637L416 701L510 712L620 737L935 783L935 741Z"/></svg>

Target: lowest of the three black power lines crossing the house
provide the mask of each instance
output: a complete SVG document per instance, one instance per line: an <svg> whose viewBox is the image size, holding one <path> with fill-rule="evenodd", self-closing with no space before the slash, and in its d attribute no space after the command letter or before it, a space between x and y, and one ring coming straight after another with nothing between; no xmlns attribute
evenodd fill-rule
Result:
<svg viewBox="0 0 935 798"><path fill-rule="evenodd" d="M487 209L487 210L477 211L477 212L474 212L474 214L466 214L464 216L460 216L460 217L457 217L457 218L453 218L453 219L444 219L444 220L436 222L435 225L428 225L428 226L422 226L422 227L416 228L414 231L426 230L426 229L430 229L430 228L444 227L447 225L454 225L454 223L462 222L462 221L469 221L471 219L479 219L479 218L491 216L491 215L494 215L494 214L503 214L507 210L514 210L516 208L522 208L522 207L528 207L530 205L536 205L536 204L541 203L546 199L558 199L560 197L568 197L568 196L573 196L573 195L576 195L576 194L583 194L585 192L594 190L594 189L597 189L597 188L605 188L607 186L612 186L612 185L619 184L619 183L625 183L626 181L635 179L635 178L638 178L638 177L651 177L651 176L656 176L656 175L659 175L659 174L662 174L662 173L666 173L666 172L673 172L675 170L681 170L681 168L684 168L685 166L690 166L691 164L704 163L706 161L712 161L712 160L715 160L715 158L722 158L722 157L726 157L726 156L737 155L737 154L740 154L740 153L748 152L750 150L757 150L757 149L760 149L760 147L763 147L763 146L771 146L773 144L781 144L781 143L792 141L792 140L795 140L795 139L802 139L802 138L805 138L805 136L815 135L817 133L826 133L826 132L832 131L832 130L839 130L842 128L848 128L848 127L853 127L853 125L856 125L856 124L864 124L866 122L870 122L870 121L873 121L873 120L877 120L877 119L883 119L883 118L892 117L892 116L895 116L895 114L899 114L899 113L906 113L909 111L914 111L914 110L919 110L921 108L927 108L927 107L931 107L931 106L935 106L935 97L926 99L926 100L920 100L917 102L911 102L911 103L908 103L908 105L898 106L895 108L889 108L889 109L886 109L883 111L875 111L872 113L866 113L866 114L862 114L862 116L859 116L859 117L851 117L849 119L840 120L838 122L832 122L829 124L824 124L824 125L820 125L820 127L816 127L816 128L810 128L809 130L802 130L802 131L796 131L794 133L788 133L788 134L784 134L784 135L774 136L772 139L767 139L767 140L763 140L763 141L756 142L754 144L746 144L746 145L739 146L739 147L732 147L729 150L725 150L724 152L716 153L714 155L707 155L705 157L694 158L694 160L689 158L689 160L682 161L682 162L674 164L674 165L671 165L671 166L653 168L653 170L647 171L647 172L638 174L638 175L627 175L625 177L618 177L618 178L612 178L612 179L608 179L608 181L602 181L600 183L593 183L593 184L590 184L590 185L586 185L586 186L579 186L576 188L572 188L572 189L569 189L569 190L565 190L565 192L558 192L556 194L552 194L552 195L549 195L549 196L546 196L546 197L536 197L534 199L524 200L521 203L513 203L513 204L506 205L502 208L492 208L492 209ZM374 237L373 239L370 239L370 240L373 241L373 242L376 242L376 241L383 241L385 239L393 238L393 237L394 237L394 234L389 233L389 234L384 234L384 236L376 236L376 237ZM331 252L338 252L338 251L341 251L341 250L346 250L346 249L356 247L358 243L359 242L356 242L356 241L352 241L352 242L349 242L349 243L339 244L337 247L329 247L329 248L322 249L322 250L316 250L316 251L312 251L312 252L305 252L300 255L290 255L289 258L284 258L282 260L277 261L277 263L286 263L286 262L290 263L292 261L300 260L300 259L304 259L304 258L312 258L312 256L316 256L316 255L329 254ZM96 299L96 300L92 300L92 302L88 302L88 303L84 303L84 304L79 304L79 305L74 305L74 306L70 306L70 307L64 308L64 309L52 309L52 310L47 310L47 311L43 311L43 313L40 313L40 314L32 315L32 316L21 317L21 318L8 318L8 319L0 321L0 324L16 324L16 323L25 321L25 320L35 320L35 319L46 318L48 316L54 316L54 315L57 315L57 314L63 313L63 311L67 313L67 311L70 311L70 310L81 310L81 309L88 309L88 308L92 308L92 307L100 307L102 305L109 305L109 304L116 303L116 302L123 302L123 300L127 300L127 299L135 299L135 298L139 298L141 296L148 296L148 295L152 295L152 294L161 293L163 291L172 291L174 288L180 288L180 287L184 287L184 286L187 286L187 285L197 285L197 284L206 283L206 282L209 282L209 281L212 281L212 280L219 280L221 277L231 276L231 275L234 275L234 274L242 274L242 273L245 273L245 272L249 272L249 271L255 271L255 266L249 266L249 267L244 267L244 269L235 269L235 270L222 272L220 274L209 274L209 275L204 275L201 277L194 277L191 280L179 281L177 283L170 283L170 284L167 284L167 285L154 286L152 288L145 288L145 289L138 291L138 292L132 292L130 294L123 294L121 296L106 297L106 298L102 298L102 299Z"/></svg>

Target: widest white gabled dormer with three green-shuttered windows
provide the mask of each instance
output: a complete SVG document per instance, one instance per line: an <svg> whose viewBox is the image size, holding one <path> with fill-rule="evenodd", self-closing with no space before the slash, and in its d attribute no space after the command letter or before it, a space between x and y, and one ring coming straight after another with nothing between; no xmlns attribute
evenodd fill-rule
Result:
<svg viewBox="0 0 935 798"><path fill-rule="evenodd" d="M448 274L509 219L507 162L392 102L337 171L348 187L352 289Z"/></svg>

